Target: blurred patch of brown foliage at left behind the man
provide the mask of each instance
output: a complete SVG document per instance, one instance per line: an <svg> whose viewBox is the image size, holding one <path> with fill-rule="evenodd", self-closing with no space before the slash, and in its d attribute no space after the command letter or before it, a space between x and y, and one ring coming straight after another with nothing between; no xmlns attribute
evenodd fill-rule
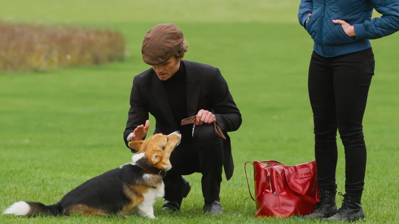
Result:
<svg viewBox="0 0 399 224"><path fill-rule="evenodd" d="M120 33L0 21L0 71L47 71L125 57Z"/></svg>

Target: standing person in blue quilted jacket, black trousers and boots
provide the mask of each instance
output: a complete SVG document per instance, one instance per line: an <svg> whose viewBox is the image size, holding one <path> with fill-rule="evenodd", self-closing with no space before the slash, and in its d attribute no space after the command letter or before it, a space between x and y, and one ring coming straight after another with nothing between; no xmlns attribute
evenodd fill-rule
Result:
<svg viewBox="0 0 399 224"><path fill-rule="evenodd" d="M371 19L373 9L382 14ZM364 218L366 170L363 115L374 75L369 39L399 30L397 0L301 0L298 19L314 40L308 92L314 117L320 202L307 218ZM345 194L337 210L337 129L345 150Z"/></svg>

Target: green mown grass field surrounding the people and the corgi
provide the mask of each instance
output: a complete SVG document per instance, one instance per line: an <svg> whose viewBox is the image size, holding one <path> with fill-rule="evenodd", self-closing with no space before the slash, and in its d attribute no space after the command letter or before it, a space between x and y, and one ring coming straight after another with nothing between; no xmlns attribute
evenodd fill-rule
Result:
<svg viewBox="0 0 399 224"><path fill-rule="evenodd" d="M0 210L18 200L56 203L88 178L129 162L131 153L122 132L132 78L148 68L141 59L142 38L159 23L175 23L190 44L185 59L217 66L241 110L243 123L230 133L235 172L221 186L224 214L201 214L201 175L192 174L186 176L192 190L183 200L182 211L161 211L159 200L156 220L0 215L0 223L301 222L255 219L244 172L247 161L295 165L314 159L306 86L312 40L297 22L299 1L159 2L14 0L1 4L0 19L10 22L120 31L129 57L98 67L0 73ZM362 205L367 223L399 223L398 43L399 34L372 41L376 69L364 117L368 160ZM253 187L251 169L248 175ZM344 191L341 144L337 178L338 190Z"/></svg>

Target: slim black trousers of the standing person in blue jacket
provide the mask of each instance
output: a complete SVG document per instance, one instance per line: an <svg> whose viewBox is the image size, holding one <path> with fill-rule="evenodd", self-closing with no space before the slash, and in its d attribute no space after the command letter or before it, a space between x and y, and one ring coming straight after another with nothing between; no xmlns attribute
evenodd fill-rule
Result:
<svg viewBox="0 0 399 224"><path fill-rule="evenodd" d="M349 194L363 191L366 145L362 121L373 75L371 48L331 58L312 54L308 91L313 110L319 188L337 188L338 129L345 150L345 190Z"/></svg>

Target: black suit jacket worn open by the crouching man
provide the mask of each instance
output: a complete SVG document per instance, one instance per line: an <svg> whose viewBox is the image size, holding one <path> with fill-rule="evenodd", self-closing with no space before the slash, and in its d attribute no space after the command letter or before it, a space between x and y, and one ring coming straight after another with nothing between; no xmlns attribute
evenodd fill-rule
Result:
<svg viewBox="0 0 399 224"><path fill-rule="evenodd" d="M231 154L228 131L235 131L241 125L241 114L238 110L226 80L219 69L193 61L182 61L186 69L187 115L194 116L200 109L211 111L216 123L225 133L224 168L227 180L233 175L234 164ZM176 121L168 103L165 89L153 69L148 69L135 76L130 94L130 109L123 139L127 147L127 136L141 124L144 124L150 113L156 119L154 133L169 134L178 130Z"/></svg>

